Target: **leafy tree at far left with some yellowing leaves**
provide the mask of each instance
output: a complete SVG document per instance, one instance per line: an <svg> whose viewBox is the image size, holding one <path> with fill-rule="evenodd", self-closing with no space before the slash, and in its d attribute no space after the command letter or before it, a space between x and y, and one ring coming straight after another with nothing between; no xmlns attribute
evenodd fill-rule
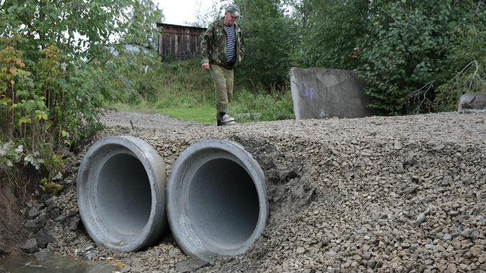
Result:
<svg viewBox="0 0 486 273"><path fill-rule="evenodd" d="M117 98L106 45L121 52L149 40L162 12L150 0L5 0L0 17L0 129L34 149L35 139L93 132L103 103Z"/></svg>

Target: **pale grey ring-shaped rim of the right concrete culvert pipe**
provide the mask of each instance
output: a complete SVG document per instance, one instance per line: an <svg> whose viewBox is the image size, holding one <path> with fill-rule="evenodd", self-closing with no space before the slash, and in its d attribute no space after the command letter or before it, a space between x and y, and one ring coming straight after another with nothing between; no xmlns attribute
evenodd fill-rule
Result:
<svg viewBox="0 0 486 273"><path fill-rule="evenodd" d="M197 231L194 231L192 220L188 218L188 202L185 198L188 196L187 192L192 183L192 177L186 178L186 180L190 180L189 182L185 181L184 177L190 171L189 168L194 164L196 157L204 157L205 153L215 152L220 152L221 155L226 153L228 157L224 159L233 160L236 164L244 168L246 173L251 177L258 194L259 211L255 229L253 229L251 236L239 247L216 247L215 245L208 244L204 238L197 235ZM208 156L208 158L210 157ZM209 161L206 161L206 163ZM199 169L196 168L196 170ZM190 173L189 175L194 175L194 173ZM263 229L265 229L268 214L269 206L265 175L258 162L253 159L252 155L240 143L220 139L199 141L184 150L172 167L171 174L167 180L167 218L178 245L190 256L196 256L204 261L212 262L217 257L243 254L260 236Z"/></svg>

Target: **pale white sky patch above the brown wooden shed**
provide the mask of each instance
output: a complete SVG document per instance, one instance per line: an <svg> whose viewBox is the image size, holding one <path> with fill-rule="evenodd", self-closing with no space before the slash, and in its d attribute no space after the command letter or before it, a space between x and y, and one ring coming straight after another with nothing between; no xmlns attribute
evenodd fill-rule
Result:
<svg viewBox="0 0 486 273"><path fill-rule="evenodd" d="M165 15L165 24L184 25L184 22L196 21L196 15L201 6L204 14L211 5L211 0L153 0Z"/></svg>

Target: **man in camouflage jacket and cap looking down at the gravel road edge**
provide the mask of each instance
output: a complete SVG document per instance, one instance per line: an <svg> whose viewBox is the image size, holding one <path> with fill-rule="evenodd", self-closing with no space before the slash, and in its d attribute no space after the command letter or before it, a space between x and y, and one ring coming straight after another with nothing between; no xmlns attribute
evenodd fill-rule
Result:
<svg viewBox="0 0 486 273"><path fill-rule="evenodd" d="M233 69L244 53L243 33L236 24L240 16L240 8L229 5L224 18L210 24L201 42L201 67L210 71L215 82L218 126L235 124L235 118L228 115L228 106L233 98Z"/></svg>

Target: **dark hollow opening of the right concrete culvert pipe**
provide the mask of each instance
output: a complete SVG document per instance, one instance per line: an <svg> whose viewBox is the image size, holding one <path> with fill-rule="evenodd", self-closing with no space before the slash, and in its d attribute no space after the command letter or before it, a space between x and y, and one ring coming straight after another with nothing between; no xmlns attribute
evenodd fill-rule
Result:
<svg viewBox="0 0 486 273"><path fill-rule="evenodd" d="M194 173L189 220L201 240L235 248L249 240L260 214L258 192L246 170L230 159L212 159Z"/></svg>

